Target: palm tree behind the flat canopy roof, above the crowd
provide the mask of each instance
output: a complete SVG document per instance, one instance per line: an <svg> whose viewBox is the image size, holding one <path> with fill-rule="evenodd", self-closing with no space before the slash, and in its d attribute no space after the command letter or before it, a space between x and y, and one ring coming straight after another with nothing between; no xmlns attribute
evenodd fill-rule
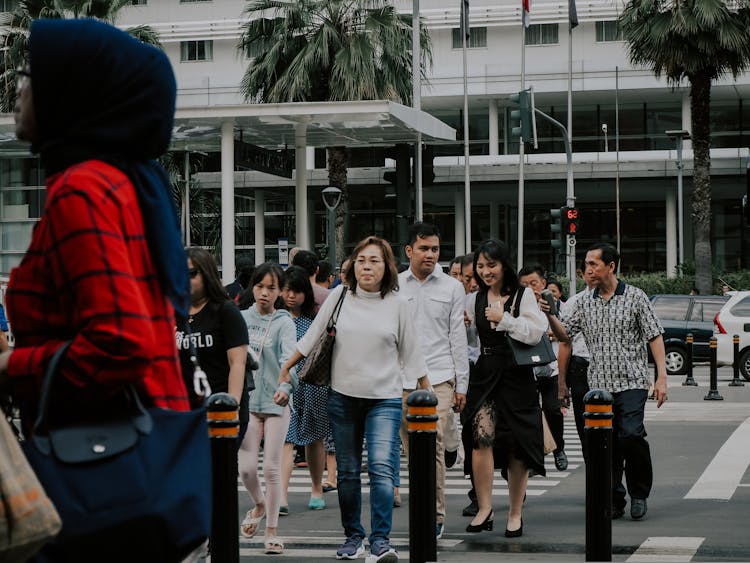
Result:
<svg viewBox="0 0 750 563"><path fill-rule="evenodd" d="M252 57L242 78L252 103L393 100L411 104L411 15L389 0L249 0L238 44ZM421 73L432 63L420 34ZM346 147L328 148L328 181L342 191L336 208L337 260L344 256L348 211Z"/></svg>

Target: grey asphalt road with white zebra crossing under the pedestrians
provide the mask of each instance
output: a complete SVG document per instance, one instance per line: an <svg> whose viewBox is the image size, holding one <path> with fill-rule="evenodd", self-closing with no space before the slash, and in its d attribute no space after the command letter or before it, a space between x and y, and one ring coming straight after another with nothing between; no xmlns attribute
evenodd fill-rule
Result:
<svg viewBox="0 0 750 563"><path fill-rule="evenodd" d="M708 368L697 367L695 378L697 387L685 387L684 376L671 376L668 402L658 410L651 401L647 405L646 428L654 462L649 511L642 521L633 521L626 513L625 518L612 523L614 561L750 561L750 382L729 387L732 371L721 368L718 391L724 400L707 401ZM570 467L557 472L548 456L548 476L530 480L521 538L503 536L507 488L499 475L494 485L495 530L467 534L464 529L469 520L461 516L461 509L467 504L469 484L459 469L448 472L448 516L445 534L438 542L438 561L585 559L585 465L572 413L568 418ZM402 471L405 468L406 459L402 458ZM407 473L402 473L402 480L404 485L408 483ZM285 554L263 555L261 532L253 540L240 538L241 561L334 560L336 547L344 539L336 493L325 495L325 510L309 510L308 483L307 470L295 469L290 515L279 521ZM244 488L240 489L242 518L251 501ZM727 498L714 498L722 495ZM404 505L394 509L392 541L406 561L408 494L403 498ZM364 495L366 529L367 500Z"/></svg>

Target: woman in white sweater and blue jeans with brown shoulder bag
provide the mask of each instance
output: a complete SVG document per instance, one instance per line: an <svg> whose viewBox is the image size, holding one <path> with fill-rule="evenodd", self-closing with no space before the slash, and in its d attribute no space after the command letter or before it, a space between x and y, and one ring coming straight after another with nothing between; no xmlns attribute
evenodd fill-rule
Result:
<svg viewBox="0 0 750 563"><path fill-rule="evenodd" d="M329 295L280 378L287 378L288 370L312 351L346 291L336 323L328 400L346 534L336 557L356 559L364 553L360 468L366 439L371 561L386 563L398 560L390 532L394 477L400 466L402 370L408 378L419 378L422 388L429 388L429 381L408 304L396 293L398 277L390 245L368 237L354 249L351 264L348 289L339 286Z"/></svg>

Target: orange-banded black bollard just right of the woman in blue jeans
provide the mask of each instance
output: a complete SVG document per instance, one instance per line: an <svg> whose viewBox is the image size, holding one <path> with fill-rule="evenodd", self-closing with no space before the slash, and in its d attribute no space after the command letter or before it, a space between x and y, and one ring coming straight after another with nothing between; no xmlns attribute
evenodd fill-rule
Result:
<svg viewBox="0 0 750 563"><path fill-rule="evenodd" d="M437 397L417 389L406 399L409 431L409 561L437 561L435 442Z"/></svg>

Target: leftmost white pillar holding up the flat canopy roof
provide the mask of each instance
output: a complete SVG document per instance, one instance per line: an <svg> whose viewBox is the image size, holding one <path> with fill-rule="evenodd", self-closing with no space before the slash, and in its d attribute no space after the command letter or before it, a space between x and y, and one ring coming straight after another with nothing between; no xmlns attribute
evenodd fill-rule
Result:
<svg viewBox="0 0 750 563"><path fill-rule="evenodd" d="M234 281L234 120L221 123L221 280Z"/></svg>

